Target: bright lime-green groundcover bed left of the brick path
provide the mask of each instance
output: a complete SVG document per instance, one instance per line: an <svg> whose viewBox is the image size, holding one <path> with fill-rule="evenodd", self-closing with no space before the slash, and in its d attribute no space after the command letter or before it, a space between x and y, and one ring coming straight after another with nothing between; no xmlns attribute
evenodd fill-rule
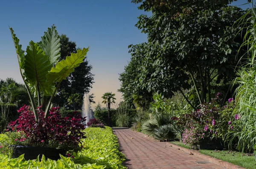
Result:
<svg viewBox="0 0 256 169"><path fill-rule="evenodd" d="M112 129L88 128L84 130L87 138L81 139L81 152L68 154L69 157L61 156L55 161L47 159L25 160L23 155L19 158L9 158L0 153L0 168L6 169L126 169L122 166L125 156L119 152L117 137ZM3 145L9 139L5 134L0 134L0 152ZM9 143L12 144L12 143Z"/></svg>

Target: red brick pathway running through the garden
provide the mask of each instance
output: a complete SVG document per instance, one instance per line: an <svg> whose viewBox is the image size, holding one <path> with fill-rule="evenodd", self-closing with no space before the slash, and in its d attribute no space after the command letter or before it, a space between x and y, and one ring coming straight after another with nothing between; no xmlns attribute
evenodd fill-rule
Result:
<svg viewBox="0 0 256 169"><path fill-rule="evenodd" d="M113 132L127 158L124 165L128 169L226 169L131 129L113 129Z"/></svg>

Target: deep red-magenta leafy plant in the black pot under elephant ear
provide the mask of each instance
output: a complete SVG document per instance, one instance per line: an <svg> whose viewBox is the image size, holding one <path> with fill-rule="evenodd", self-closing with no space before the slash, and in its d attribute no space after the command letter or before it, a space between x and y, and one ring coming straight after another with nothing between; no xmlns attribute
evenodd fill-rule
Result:
<svg viewBox="0 0 256 169"><path fill-rule="evenodd" d="M50 116L44 118L45 113L38 107L38 122L35 121L34 113L29 106L21 107L17 120L9 123L9 130L22 132L21 137L15 138L17 145L23 146L46 146L61 148L66 151L81 149L80 140L85 138L83 122L85 117L79 114L61 117L58 107L50 109Z"/></svg>

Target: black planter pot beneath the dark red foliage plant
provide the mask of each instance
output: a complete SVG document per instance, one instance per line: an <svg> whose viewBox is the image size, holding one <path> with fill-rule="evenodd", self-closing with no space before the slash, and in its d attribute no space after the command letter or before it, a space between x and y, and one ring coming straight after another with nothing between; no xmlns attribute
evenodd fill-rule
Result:
<svg viewBox="0 0 256 169"><path fill-rule="evenodd" d="M39 159L42 158L42 155L45 158L51 160L60 159L60 154L65 155L65 151L61 149L49 148L49 147L39 147L39 146L17 146L11 145L13 147L12 158L18 158L20 155L24 154L26 160L35 160L38 155Z"/></svg>

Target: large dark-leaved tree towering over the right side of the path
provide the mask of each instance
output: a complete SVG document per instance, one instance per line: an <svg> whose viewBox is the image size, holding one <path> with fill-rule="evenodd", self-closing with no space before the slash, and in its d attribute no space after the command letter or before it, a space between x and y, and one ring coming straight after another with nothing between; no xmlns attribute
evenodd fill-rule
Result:
<svg viewBox="0 0 256 169"><path fill-rule="evenodd" d="M232 1L133 0L141 3L139 9L152 12L136 24L148 42L129 46L132 60L140 65L133 86L165 97L192 88L198 102L211 100L212 82L231 81L244 53L236 57L242 32L236 36L233 26L244 11L228 6Z"/></svg>

